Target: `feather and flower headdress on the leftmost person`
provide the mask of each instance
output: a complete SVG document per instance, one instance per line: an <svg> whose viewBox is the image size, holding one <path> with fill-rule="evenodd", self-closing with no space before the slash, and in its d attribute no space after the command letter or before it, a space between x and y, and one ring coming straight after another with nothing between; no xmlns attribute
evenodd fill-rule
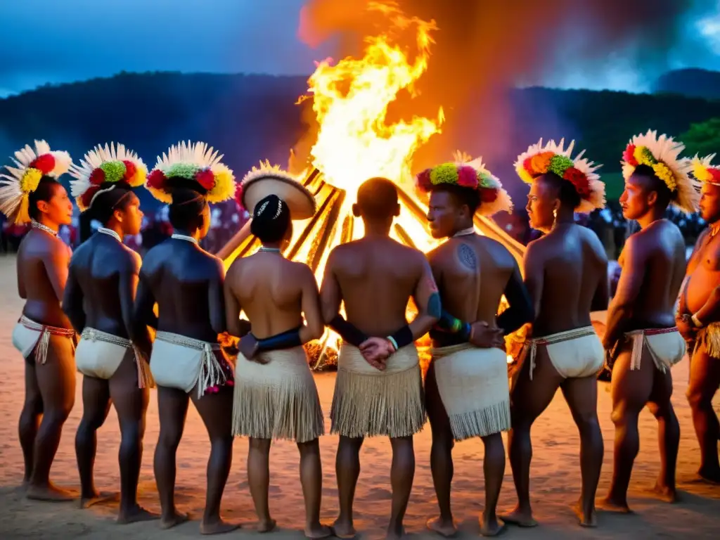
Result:
<svg viewBox="0 0 720 540"><path fill-rule="evenodd" d="M17 150L12 161L14 167L5 166L9 174L0 174L0 212L16 223L26 223L30 221L30 194L42 176L58 179L73 161L67 152L51 151L44 140L36 140L35 149L25 145Z"/></svg>

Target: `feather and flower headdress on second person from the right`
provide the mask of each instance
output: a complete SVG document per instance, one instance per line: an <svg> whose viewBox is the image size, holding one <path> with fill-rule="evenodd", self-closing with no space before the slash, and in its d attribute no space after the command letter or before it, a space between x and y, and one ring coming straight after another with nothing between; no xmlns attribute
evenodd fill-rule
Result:
<svg viewBox="0 0 720 540"><path fill-rule="evenodd" d="M667 135L657 136L657 131L648 130L644 135L635 135L623 153L623 176L627 180L639 165L647 165L672 193L672 204L691 214L698 210L698 191L690 179L693 167L688 158L680 158L685 145Z"/></svg>

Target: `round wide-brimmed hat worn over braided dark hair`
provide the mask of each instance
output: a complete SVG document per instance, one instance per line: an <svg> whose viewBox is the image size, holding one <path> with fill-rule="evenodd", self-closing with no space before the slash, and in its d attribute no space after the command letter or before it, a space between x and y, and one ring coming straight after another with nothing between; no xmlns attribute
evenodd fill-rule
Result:
<svg viewBox="0 0 720 540"><path fill-rule="evenodd" d="M315 215L317 205L315 197L297 179L279 165L261 161L259 167L253 166L238 182L235 201L248 212L254 212L256 204L269 194L274 194L287 204L293 220L307 220Z"/></svg>

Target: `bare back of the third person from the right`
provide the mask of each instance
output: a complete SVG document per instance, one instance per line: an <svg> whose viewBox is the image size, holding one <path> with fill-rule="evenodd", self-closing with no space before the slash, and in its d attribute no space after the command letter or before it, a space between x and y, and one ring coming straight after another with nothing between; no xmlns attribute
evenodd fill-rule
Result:
<svg viewBox="0 0 720 540"><path fill-rule="evenodd" d="M592 230L575 224L552 230L528 244L524 266L534 337L589 326L593 300L607 309L608 258Z"/></svg>

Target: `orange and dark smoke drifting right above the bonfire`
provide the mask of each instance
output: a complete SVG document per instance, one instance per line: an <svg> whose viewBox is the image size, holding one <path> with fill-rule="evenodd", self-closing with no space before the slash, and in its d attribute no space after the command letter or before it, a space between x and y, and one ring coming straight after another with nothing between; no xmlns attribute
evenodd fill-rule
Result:
<svg viewBox="0 0 720 540"><path fill-rule="evenodd" d="M513 124L521 120L513 117L509 87L539 84L548 73L593 73L607 66L608 59L621 60L638 71L663 68L688 17L708 12L716 1L400 0L397 4L408 17L433 19L438 27L428 71L417 84L420 97L400 96L395 111L435 117L439 105L445 109L443 135L420 149L415 156L419 168L449 158L458 145L470 153L482 149L490 162L508 158L510 139L515 138ZM363 37L376 35L378 24L382 28L379 15L367 12L365 6L366 0L307 1L300 16L300 39L311 46L337 39L333 58L361 54Z"/></svg>

